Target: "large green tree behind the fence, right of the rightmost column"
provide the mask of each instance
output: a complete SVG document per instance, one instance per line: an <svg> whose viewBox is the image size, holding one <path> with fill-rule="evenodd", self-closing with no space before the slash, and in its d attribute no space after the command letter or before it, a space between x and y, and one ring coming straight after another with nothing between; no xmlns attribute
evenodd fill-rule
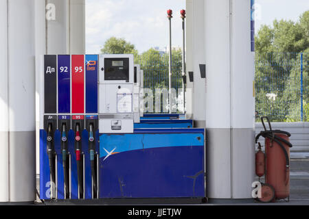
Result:
<svg viewBox="0 0 309 219"><path fill-rule="evenodd" d="M269 116L273 121L299 117L299 53L304 53L304 60L308 60L308 52L309 11L301 14L296 23L275 20L273 27L263 25L260 28L255 36L255 108L259 115ZM304 84L308 84L307 67L304 68ZM304 86L304 90L308 87ZM270 94L276 98L269 98ZM306 103L309 103L308 98L307 93L304 95Z"/></svg>

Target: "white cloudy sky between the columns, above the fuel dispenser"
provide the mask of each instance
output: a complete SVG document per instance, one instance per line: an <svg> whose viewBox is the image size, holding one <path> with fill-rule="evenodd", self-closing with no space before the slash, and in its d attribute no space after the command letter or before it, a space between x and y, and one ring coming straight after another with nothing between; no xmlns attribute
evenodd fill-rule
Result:
<svg viewBox="0 0 309 219"><path fill-rule="evenodd" d="M172 44L182 44L179 11L185 0L87 0L86 48L87 53L99 53L111 36L125 38L135 44L141 53L150 47L168 44L168 18L166 10L172 8Z"/></svg>

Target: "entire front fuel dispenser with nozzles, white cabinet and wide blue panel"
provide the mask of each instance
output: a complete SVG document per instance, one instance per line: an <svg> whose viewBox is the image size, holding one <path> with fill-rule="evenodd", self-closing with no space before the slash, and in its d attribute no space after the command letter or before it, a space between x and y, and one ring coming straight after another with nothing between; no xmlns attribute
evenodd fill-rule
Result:
<svg viewBox="0 0 309 219"><path fill-rule="evenodd" d="M132 54L37 60L41 199L205 197L204 129L134 128L144 96Z"/></svg>

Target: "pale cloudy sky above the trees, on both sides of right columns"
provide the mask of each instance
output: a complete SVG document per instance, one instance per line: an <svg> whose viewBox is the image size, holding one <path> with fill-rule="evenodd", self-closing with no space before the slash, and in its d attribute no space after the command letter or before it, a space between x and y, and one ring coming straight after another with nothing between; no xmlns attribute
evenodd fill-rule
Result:
<svg viewBox="0 0 309 219"><path fill-rule="evenodd" d="M220 0L218 0L220 1ZM173 10L172 46L181 47L180 10L185 0L86 0L86 52L98 54L111 36L135 44L142 53L168 45L166 10ZM255 0L255 30L277 18L297 21L309 0Z"/></svg>

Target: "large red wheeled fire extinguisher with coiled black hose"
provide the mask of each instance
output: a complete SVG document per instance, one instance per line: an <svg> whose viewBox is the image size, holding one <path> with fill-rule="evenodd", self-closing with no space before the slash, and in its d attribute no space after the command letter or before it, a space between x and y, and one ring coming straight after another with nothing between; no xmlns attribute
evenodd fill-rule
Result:
<svg viewBox="0 0 309 219"><path fill-rule="evenodd" d="M269 130L264 124L266 118ZM262 117L264 131L255 138L258 143L260 136L265 138L265 154L259 142L258 152L255 154L255 173L258 177L265 175L265 183L261 186L259 201L268 203L290 196L290 133L272 130L268 117Z"/></svg>

